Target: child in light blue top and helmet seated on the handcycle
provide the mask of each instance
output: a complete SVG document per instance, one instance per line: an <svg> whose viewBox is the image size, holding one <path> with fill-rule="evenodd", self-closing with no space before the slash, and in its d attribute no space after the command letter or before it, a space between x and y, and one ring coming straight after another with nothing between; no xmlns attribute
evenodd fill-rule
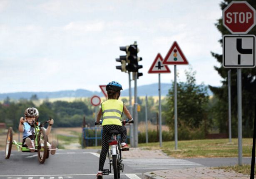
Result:
<svg viewBox="0 0 256 179"><path fill-rule="evenodd" d="M35 138L34 138L34 130L33 122L39 118L39 112L36 108L29 107L24 112L25 118L20 118L19 123L19 131L23 133L22 147L35 148ZM46 135L49 135L52 129L52 124L54 123L53 119L49 121L49 125L46 128ZM38 124L39 125L39 124ZM57 142L52 141L52 145L49 145L49 148L55 149L57 148ZM34 149L30 149L30 152L35 152ZM54 155L56 150L51 150L51 154Z"/></svg>

